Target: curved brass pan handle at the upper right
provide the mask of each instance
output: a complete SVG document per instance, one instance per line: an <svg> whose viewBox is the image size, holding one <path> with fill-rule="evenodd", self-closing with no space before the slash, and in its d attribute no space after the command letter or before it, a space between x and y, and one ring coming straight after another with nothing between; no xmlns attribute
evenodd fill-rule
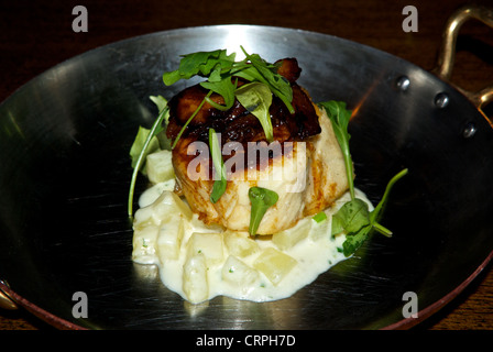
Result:
<svg viewBox="0 0 493 352"><path fill-rule="evenodd" d="M464 6L452 13L446 23L438 56L438 67L434 70L434 73L442 80L450 81L456 56L457 36L462 24L470 19L481 21L493 29L493 9L482 6ZM489 86L475 92L467 91L459 87L458 89L468 97L480 111L487 102L493 101L493 86Z"/></svg>

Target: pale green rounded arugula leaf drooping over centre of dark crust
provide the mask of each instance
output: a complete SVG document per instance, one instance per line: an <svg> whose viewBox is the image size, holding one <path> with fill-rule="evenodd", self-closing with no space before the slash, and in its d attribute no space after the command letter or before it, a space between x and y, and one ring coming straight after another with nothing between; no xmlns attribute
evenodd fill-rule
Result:
<svg viewBox="0 0 493 352"><path fill-rule="evenodd" d="M235 91L237 99L240 103L254 114L265 133L269 143L274 141L274 131L272 128L271 113L269 108L272 105L272 92L269 87L262 82L251 82L241 86Z"/></svg>

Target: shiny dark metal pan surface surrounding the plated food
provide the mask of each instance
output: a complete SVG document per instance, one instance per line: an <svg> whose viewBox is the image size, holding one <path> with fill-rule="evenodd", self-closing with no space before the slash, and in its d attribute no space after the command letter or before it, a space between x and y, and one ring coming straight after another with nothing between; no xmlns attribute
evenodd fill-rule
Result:
<svg viewBox="0 0 493 352"><path fill-rule="evenodd" d="M297 57L299 82L315 101L357 110L357 184L371 199L403 167L409 174L382 220L392 239L374 235L288 299L190 306L163 287L155 267L131 262L128 152L138 127L155 117L149 96L185 87L161 80L179 55L239 45L269 61ZM441 108L440 94L448 97ZM131 38L62 63L0 106L0 278L56 319L89 329L408 327L419 318L403 318L406 292L418 295L423 319L491 258L492 150L487 121L458 90L353 42L249 25ZM140 179L139 191L145 187ZM76 292L87 294L88 318L72 315Z"/></svg>

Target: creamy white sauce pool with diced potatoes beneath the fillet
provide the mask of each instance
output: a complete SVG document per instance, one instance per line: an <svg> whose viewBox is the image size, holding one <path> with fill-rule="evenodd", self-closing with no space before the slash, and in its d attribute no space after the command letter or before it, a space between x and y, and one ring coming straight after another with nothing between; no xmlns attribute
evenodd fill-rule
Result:
<svg viewBox="0 0 493 352"><path fill-rule="evenodd" d="M273 238L271 239L271 237L258 237L255 240L250 238L250 240L256 243L256 250L246 255L239 255L237 252L232 253L228 249L226 243L227 233L219 228L207 227L198 220L197 215L193 215L190 220L182 217L179 222L182 230L178 230L177 227L175 228L174 223L176 221L173 222L173 219L175 219L173 217L179 218L179 216L169 216L173 212L172 210L163 210L163 207L173 206L173 204L169 205L169 201L166 200L161 208L155 207L156 200L158 201L163 193L172 194L173 188L174 180L157 184L147 189L139 199L140 209L135 213L132 260L141 264L157 265L163 284L186 300L200 302L219 295L252 301L286 298L313 283L318 275L328 271L331 266L347 258L340 251L346 237L343 234L336 238L332 237L330 228L331 215L350 199L349 193L326 210L326 220L316 222L313 220L313 217L308 217L300 220L295 228L288 230L294 237L302 234L303 239L294 245L280 248L278 243L276 244L276 241ZM369 204L370 210L373 209L363 193L357 189L357 196ZM169 199L176 198L171 197ZM186 204L184 202L184 205ZM169 216L171 222L160 222L160 211L164 211L165 216ZM178 239L178 255L176 258L169 258L162 254L162 245L169 244L176 240L174 238L166 240L164 234L166 231L182 231L182 237ZM209 253L205 253L210 255L206 258L206 266L200 266L200 263L187 263L190 258L189 242L194 233L219 233L219 237L216 239L221 239L220 241L222 241L218 249L212 249ZM241 239L242 241L243 239L249 240L246 234L243 234ZM173 243L176 244L175 242ZM252 244L252 242L248 243ZM266 250L267 252L265 252ZM287 255L282 256L287 262L283 262L282 268L285 272L281 273L280 276L265 275L265 265L259 264L261 255L271 253L269 251ZM201 254L200 250L197 252ZM200 257L204 258L201 255ZM289 264L288 267L284 265L285 263ZM191 265L191 268L189 265ZM196 266L194 267L194 265ZM186 270L188 270L187 274L185 274ZM187 277L196 280L196 283L190 284L189 279L185 283L185 275L188 275ZM277 279L280 280L277 282ZM190 289L193 293L190 293Z"/></svg>

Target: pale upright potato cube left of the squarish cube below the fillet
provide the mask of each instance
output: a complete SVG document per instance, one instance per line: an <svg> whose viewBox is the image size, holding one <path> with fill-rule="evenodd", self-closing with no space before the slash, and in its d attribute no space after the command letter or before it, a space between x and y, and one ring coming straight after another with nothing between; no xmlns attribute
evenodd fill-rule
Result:
<svg viewBox="0 0 493 352"><path fill-rule="evenodd" d="M161 263L165 260L177 260L182 248L184 223L180 217L169 218L163 222L157 235L157 256Z"/></svg>

